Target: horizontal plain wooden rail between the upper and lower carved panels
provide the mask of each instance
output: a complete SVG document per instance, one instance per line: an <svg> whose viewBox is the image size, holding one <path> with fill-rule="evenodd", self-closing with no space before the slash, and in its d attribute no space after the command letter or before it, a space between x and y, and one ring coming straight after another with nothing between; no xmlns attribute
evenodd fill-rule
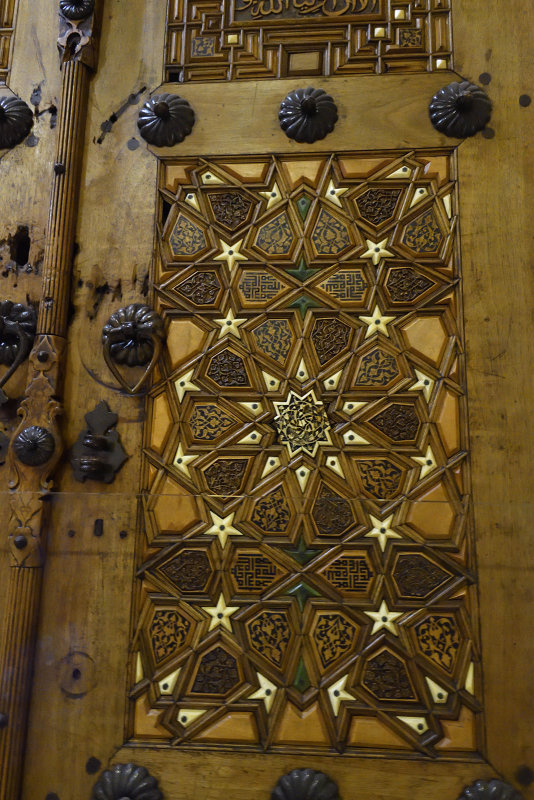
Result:
<svg viewBox="0 0 534 800"><path fill-rule="evenodd" d="M238 81L213 84L164 84L157 91L173 92L189 101L195 127L178 147L158 148L158 156L198 153L371 150L402 147L443 147L455 141L438 133L428 121L428 102L454 79L450 72L320 78L317 86L334 98L339 119L322 142L298 144L280 129L280 102L299 81ZM309 80L308 80L309 82ZM304 79L303 84L308 83ZM216 135L214 132L216 131Z"/></svg>

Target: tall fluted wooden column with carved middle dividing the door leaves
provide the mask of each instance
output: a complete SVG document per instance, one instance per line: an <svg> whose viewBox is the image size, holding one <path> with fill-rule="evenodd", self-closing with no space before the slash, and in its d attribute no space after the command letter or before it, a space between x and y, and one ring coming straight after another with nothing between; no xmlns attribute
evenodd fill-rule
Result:
<svg viewBox="0 0 534 800"><path fill-rule="evenodd" d="M78 0L69 0L71 10ZM60 0L60 9L67 8ZM86 12L89 12L88 14ZM78 13L75 9L75 13ZM37 333L21 422L10 445L12 555L6 633L0 649L0 800L18 800L28 727L33 662L46 555L43 502L62 452L58 426L65 360L77 198L80 187L88 87L94 67L92 0L79 1L72 18L60 13L58 45L62 93Z"/></svg>

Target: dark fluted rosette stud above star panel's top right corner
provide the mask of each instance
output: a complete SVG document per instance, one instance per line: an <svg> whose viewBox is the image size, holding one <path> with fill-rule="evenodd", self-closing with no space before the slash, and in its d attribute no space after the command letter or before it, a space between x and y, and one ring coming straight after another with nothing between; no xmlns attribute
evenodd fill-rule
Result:
<svg viewBox="0 0 534 800"><path fill-rule="evenodd" d="M481 131L491 118L491 100L469 81L454 81L440 89L428 107L434 128L445 136L465 139Z"/></svg>

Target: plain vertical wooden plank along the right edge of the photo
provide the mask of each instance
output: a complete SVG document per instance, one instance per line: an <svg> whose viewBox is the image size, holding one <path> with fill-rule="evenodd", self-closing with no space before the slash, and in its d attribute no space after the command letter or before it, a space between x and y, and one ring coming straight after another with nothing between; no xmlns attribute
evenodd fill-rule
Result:
<svg viewBox="0 0 534 800"><path fill-rule="evenodd" d="M533 106L519 104L534 88L534 8L456 0L454 29L456 69L489 73L494 104L495 138L465 142L458 161L487 746L510 780L534 767Z"/></svg>

